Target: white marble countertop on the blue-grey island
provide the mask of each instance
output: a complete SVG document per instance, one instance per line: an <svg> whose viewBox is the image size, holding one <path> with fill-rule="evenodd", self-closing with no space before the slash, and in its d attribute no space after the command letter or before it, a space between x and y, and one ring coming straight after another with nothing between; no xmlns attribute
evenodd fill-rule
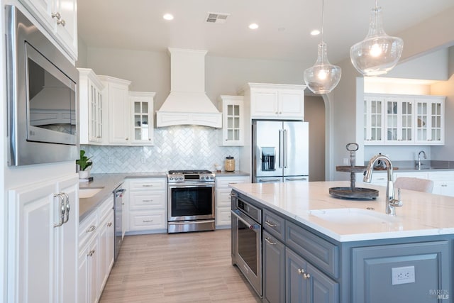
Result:
<svg viewBox="0 0 454 303"><path fill-rule="evenodd" d="M454 197L401 190L404 205L396 207L396 216L385 214L386 187L356 182L356 187L379 190L375 200L337 199L330 187L350 187L350 182L289 182L231 184L233 189L314 228L336 241L364 241L454 233ZM316 216L318 210L361 209L373 211L377 220L331 221ZM368 214L368 213L366 213ZM382 219L380 219L382 218Z"/></svg>

